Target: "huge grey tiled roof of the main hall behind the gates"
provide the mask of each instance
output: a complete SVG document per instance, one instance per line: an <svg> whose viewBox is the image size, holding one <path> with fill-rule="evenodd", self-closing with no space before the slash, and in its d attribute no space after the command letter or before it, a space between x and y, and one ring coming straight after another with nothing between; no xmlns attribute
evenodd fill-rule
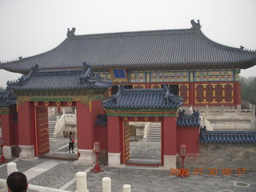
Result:
<svg viewBox="0 0 256 192"><path fill-rule="evenodd" d="M35 64L38 64L39 70L81 68L83 61L89 62L95 70L119 67L249 68L256 64L255 51L213 42L202 34L200 27L113 34L73 34L53 50L2 63L0 69L27 73Z"/></svg>

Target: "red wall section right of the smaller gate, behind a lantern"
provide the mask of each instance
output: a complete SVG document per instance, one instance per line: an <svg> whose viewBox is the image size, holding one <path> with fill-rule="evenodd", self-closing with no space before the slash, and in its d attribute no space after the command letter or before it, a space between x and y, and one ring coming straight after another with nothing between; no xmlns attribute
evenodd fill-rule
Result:
<svg viewBox="0 0 256 192"><path fill-rule="evenodd" d="M199 153L199 128L198 127L179 127L177 128L177 153L180 153L180 145L186 145L187 154Z"/></svg>

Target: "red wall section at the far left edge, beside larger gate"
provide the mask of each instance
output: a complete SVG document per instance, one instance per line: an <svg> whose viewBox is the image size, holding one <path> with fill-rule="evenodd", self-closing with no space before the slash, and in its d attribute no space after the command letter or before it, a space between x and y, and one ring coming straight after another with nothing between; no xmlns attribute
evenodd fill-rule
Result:
<svg viewBox="0 0 256 192"><path fill-rule="evenodd" d="M4 138L5 146L13 146L14 145L14 125L13 114L2 114L2 136Z"/></svg>

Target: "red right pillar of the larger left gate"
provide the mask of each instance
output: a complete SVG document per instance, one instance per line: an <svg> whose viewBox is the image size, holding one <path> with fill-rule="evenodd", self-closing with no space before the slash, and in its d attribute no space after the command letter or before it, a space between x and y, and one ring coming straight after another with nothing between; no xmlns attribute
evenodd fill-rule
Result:
<svg viewBox="0 0 256 192"><path fill-rule="evenodd" d="M92 150L94 148L94 121L90 106L77 102L77 137L78 149Z"/></svg>

